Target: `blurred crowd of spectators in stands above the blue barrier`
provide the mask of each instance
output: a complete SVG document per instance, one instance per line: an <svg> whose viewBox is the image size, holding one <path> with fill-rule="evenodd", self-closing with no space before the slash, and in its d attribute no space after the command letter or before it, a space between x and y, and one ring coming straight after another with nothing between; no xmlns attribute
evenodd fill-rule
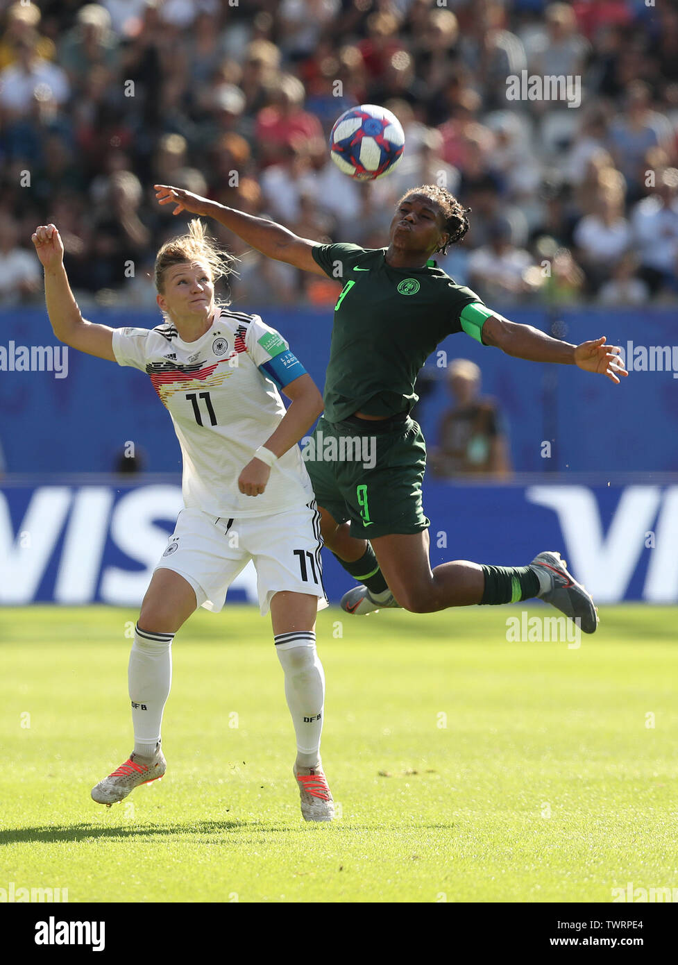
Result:
<svg viewBox="0 0 678 965"><path fill-rule="evenodd" d="M507 77L581 77L509 100ZM346 178L346 108L403 124L392 175ZM317 240L388 244L437 183L473 208L439 259L490 305L678 300L678 4L663 0L0 0L0 305L40 303L53 222L88 304L153 306L172 183ZM332 304L337 285L248 250L241 308Z"/></svg>

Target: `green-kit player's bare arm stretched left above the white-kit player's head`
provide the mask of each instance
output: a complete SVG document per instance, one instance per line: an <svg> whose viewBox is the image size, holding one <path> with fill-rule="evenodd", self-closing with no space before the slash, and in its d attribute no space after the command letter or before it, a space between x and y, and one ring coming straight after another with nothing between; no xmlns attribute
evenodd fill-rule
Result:
<svg viewBox="0 0 678 965"><path fill-rule="evenodd" d="M234 207L219 205L216 201L201 198L200 195L184 191L180 187L172 187L170 184L154 184L153 187L159 205L176 205L173 214L190 211L191 214L214 218L262 255L274 258L277 262L293 264L304 271L312 271L315 275L325 275L320 265L313 261L311 254L317 241L300 238L275 221L266 221L265 218L256 218L253 214L245 214Z"/></svg>

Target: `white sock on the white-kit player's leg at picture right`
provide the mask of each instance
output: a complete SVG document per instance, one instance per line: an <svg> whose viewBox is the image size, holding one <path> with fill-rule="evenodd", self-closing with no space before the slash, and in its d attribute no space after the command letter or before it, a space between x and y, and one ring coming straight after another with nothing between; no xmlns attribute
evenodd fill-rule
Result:
<svg viewBox="0 0 678 965"><path fill-rule="evenodd" d="M285 672L285 698L297 738L297 766L320 766L325 674L315 649L315 632L279 633L275 641Z"/></svg>

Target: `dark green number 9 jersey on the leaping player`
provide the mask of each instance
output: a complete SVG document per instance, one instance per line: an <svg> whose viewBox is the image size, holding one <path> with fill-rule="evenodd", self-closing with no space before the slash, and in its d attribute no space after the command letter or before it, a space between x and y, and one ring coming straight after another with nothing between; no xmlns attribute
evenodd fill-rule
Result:
<svg viewBox="0 0 678 965"><path fill-rule="evenodd" d="M335 306L325 379L325 418L341 422L354 412L393 416L419 400L415 381L428 356L447 335L477 333L460 315L481 299L457 285L434 262L393 268L386 248L317 244L315 262L343 281ZM488 313L489 314L489 313Z"/></svg>

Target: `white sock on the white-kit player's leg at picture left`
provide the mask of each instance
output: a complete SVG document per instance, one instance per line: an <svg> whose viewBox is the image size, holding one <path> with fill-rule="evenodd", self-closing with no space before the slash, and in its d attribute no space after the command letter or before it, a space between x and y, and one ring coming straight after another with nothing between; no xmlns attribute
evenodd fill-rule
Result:
<svg viewBox="0 0 678 965"><path fill-rule="evenodd" d="M174 633L151 633L134 628L127 679L132 702L134 753L152 758L160 742L160 725L172 686Z"/></svg>

